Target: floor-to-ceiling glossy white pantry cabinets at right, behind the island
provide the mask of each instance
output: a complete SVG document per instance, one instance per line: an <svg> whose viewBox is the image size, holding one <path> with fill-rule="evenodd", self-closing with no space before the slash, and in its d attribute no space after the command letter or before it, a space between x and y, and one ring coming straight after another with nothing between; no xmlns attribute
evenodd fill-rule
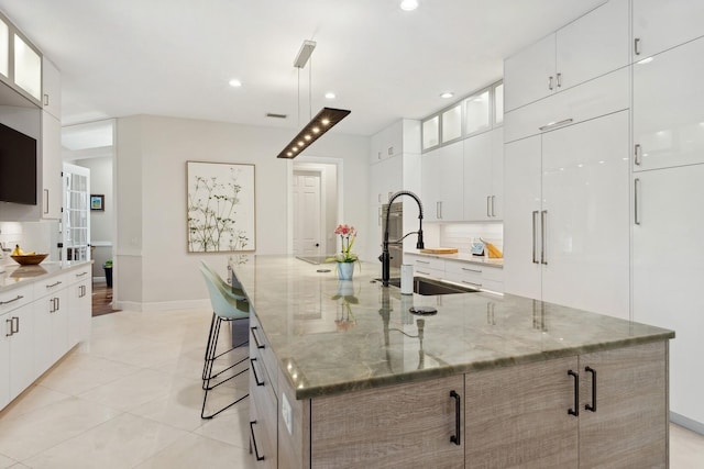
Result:
<svg viewBox="0 0 704 469"><path fill-rule="evenodd" d="M590 43L604 32L580 24L623 5L568 26ZM704 2L631 0L628 11L608 23L618 31L605 64L617 68L571 88L521 98L509 87L524 53L506 60L505 291L675 331L671 418L704 432ZM592 172L570 176L575 164Z"/></svg>

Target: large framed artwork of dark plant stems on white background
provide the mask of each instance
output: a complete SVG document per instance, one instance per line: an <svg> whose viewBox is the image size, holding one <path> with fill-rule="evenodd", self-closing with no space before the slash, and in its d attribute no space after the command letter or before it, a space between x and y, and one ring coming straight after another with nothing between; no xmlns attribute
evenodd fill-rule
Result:
<svg viewBox="0 0 704 469"><path fill-rule="evenodd" d="M186 161L188 252L256 248L254 165Z"/></svg>

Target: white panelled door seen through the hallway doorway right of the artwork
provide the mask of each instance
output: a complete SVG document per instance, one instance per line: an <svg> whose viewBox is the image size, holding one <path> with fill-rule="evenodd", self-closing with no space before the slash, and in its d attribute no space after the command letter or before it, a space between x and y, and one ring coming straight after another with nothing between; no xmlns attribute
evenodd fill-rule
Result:
<svg viewBox="0 0 704 469"><path fill-rule="evenodd" d="M320 172L294 172L294 255L319 256L324 237L320 232L322 211Z"/></svg>

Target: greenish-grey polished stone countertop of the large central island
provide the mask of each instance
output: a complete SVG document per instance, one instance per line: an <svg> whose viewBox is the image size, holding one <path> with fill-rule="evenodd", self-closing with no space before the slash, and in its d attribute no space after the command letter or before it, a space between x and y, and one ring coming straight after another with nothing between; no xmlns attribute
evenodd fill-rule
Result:
<svg viewBox="0 0 704 469"><path fill-rule="evenodd" d="M333 264L294 257L241 255L230 265L297 399L674 337L509 294L402 295L375 281L376 264L362 263L351 281L338 280ZM419 316L410 306L438 313Z"/></svg>

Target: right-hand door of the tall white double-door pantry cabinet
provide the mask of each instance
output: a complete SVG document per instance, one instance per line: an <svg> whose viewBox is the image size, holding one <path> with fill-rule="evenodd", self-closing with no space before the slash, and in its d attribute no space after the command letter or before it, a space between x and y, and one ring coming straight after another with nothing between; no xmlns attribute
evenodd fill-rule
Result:
<svg viewBox="0 0 704 469"><path fill-rule="evenodd" d="M543 301L629 317L628 155L628 111L543 134Z"/></svg>

